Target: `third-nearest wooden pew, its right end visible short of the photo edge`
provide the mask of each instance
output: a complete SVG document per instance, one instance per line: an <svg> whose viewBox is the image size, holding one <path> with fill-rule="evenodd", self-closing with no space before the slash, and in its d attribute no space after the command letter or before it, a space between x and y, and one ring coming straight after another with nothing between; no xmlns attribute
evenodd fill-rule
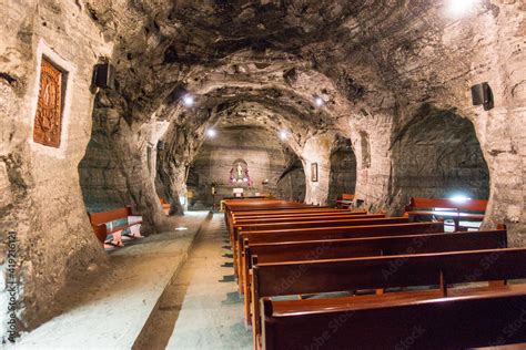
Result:
<svg viewBox="0 0 526 350"><path fill-rule="evenodd" d="M253 244L244 249L240 274L245 296L245 320L250 322L252 257L257 264L267 264L506 247L506 230Z"/></svg>

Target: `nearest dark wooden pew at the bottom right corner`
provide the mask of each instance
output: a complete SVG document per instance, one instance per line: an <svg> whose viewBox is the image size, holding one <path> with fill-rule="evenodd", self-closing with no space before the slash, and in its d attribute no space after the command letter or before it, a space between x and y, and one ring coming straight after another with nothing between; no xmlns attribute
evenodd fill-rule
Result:
<svg viewBox="0 0 526 350"><path fill-rule="evenodd" d="M264 299L263 349L524 349L526 342L524 285L448 298L337 299Z"/></svg>

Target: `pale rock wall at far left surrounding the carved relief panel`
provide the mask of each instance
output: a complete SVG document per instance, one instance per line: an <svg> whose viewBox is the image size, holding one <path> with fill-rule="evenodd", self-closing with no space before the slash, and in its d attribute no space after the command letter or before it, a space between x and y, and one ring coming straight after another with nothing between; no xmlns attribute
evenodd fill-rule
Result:
<svg viewBox="0 0 526 350"><path fill-rule="evenodd" d="M21 330L60 309L54 297L70 276L105 261L77 166L90 140L93 65L112 44L79 1L3 1L0 22L0 246L17 234ZM58 148L32 141L42 56L67 72Z"/></svg>

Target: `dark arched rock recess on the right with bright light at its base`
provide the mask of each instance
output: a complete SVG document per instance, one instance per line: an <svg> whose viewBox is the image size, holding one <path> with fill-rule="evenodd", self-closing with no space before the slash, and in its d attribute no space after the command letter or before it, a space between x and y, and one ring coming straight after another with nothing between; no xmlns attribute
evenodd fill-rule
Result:
<svg viewBox="0 0 526 350"><path fill-rule="evenodd" d="M488 199L489 171L473 123L454 111L425 105L394 135L393 194Z"/></svg>

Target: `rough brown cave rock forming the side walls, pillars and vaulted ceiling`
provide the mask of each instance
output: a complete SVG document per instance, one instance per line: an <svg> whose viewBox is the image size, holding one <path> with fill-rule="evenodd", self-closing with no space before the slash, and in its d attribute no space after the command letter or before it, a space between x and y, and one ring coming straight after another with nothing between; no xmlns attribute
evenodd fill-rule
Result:
<svg viewBox="0 0 526 350"><path fill-rule="evenodd" d="M0 219L23 247L20 300L28 325L45 315L37 305L43 308L64 285L68 264L82 269L101 258L85 208L129 204L143 214L146 233L158 231L164 219L156 192L181 213L188 168L214 125L287 131L307 203L327 200L338 134L351 141L355 195L367 208L397 213L408 196L462 188L488 196L486 227L505 223L509 241L525 245L526 7L482 1L453 18L446 6L2 3L0 198L8 204L0 205ZM61 158L30 142L40 40L77 68ZM117 87L94 99L92 66L103 59L117 68ZM481 82L493 89L490 111L472 105L469 87ZM182 87L195 96L192 107L180 103ZM293 158L284 161L295 166L290 178L301 173ZM277 188L290 188L281 183ZM41 286L53 286L49 297L37 297Z"/></svg>

